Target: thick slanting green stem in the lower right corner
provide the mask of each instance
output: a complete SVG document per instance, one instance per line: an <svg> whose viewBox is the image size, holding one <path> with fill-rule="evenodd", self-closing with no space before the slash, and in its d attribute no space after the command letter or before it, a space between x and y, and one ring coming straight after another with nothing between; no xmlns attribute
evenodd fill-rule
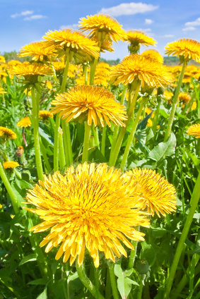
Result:
<svg viewBox="0 0 200 299"><path fill-rule="evenodd" d="M194 191L192 193L192 198L191 198L191 202L190 202L191 207L189 209L189 214L187 215L187 220L185 221L184 228L183 228L183 231L182 231L182 235L181 235L179 243L177 245L177 250L175 252L175 257L174 257L174 260L172 262L172 266L171 266L171 269L170 269L170 274L169 274L168 279L167 279L167 284L166 284L166 289L165 289L165 298L166 299L168 299L169 295L170 295L170 290L172 288L172 283L173 283L173 280L174 280L174 277L175 277L175 273L177 271L177 265L178 265L178 262L180 260L180 255L182 253L182 248L183 248L183 245L184 245L184 241L187 238L189 228L192 224L194 212L195 212L196 207L197 207L198 202L199 202L199 197L200 197L200 172L199 172L198 178L196 179L196 183L195 183L195 186L194 186Z"/></svg>

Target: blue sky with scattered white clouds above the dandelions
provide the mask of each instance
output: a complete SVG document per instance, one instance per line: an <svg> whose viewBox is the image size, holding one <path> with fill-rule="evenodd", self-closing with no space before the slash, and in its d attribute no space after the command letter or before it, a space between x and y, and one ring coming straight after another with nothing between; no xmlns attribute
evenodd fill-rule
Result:
<svg viewBox="0 0 200 299"><path fill-rule="evenodd" d="M1 53L42 40L48 30L77 29L80 18L97 13L116 18L124 30L146 32L158 42L151 49L162 55L168 42L184 37L200 42L200 0L0 0L0 8ZM113 45L115 51L103 58L123 59L128 54L127 43Z"/></svg>

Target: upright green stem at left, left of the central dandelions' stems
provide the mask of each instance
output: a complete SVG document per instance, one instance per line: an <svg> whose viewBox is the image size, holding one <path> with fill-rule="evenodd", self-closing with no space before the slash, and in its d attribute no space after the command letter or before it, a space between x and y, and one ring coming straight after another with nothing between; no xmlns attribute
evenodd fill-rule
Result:
<svg viewBox="0 0 200 299"><path fill-rule="evenodd" d="M43 181L42 159L40 154L40 137L39 137L39 97L35 97L35 87L31 89L32 97L32 121L33 121L33 133L34 133L34 145L35 145L35 163L37 167L37 176L40 181Z"/></svg>

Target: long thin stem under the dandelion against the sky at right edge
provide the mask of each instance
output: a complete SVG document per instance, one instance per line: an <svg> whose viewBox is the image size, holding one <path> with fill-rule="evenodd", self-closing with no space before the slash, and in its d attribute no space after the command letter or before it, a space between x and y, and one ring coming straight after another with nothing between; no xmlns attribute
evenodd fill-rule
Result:
<svg viewBox="0 0 200 299"><path fill-rule="evenodd" d="M175 98L174 98L174 101L173 101L173 104L172 104L172 110L171 110L171 113L170 113L170 118L169 118L169 121L167 123L167 130L165 132L164 142L166 142L167 139L170 137L170 133L171 133L171 130L172 130L172 123L173 123L173 120L174 120L174 117L175 117L175 111L176 111L176 107L177 107L178 96L179 96L179 93L180 93L180 87L182 85L182 78L184 76L184 70L185 70L186 66L187 66L187 61L184 60L184 62L182 64L182 71L180 73L179 82L177 84L177 89L176 89L176 92L175 92Z"/></svg>

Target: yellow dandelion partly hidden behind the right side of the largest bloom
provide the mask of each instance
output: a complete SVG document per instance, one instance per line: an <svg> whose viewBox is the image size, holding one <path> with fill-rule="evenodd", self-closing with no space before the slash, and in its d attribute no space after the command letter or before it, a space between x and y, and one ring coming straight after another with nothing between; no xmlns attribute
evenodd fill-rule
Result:
<svg viewBox="0 0 200 299"><path fill-rule="evenodd" d="M175 188L168 183L159 173L152 169L132 169L124 176L133 180L138 185L133 202L137 207L146 209L152 216L154 212L163 216L176 209Z"/></svg>

